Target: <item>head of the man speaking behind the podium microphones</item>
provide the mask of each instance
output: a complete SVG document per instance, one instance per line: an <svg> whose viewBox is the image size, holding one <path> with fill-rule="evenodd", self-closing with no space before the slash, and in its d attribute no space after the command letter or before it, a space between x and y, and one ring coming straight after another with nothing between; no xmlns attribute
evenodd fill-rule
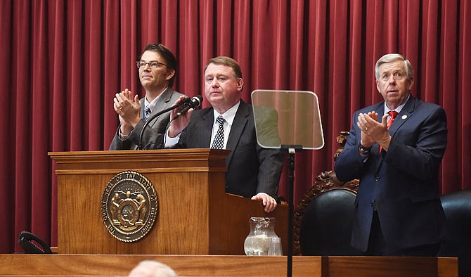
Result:
<svg viewBox="0 0 471 277"><path fill-rule="evenodd" d="M226 56L212 58L204 72L205 96L217 112L222 114L240 101L244 81L236 60Z"/></svg>

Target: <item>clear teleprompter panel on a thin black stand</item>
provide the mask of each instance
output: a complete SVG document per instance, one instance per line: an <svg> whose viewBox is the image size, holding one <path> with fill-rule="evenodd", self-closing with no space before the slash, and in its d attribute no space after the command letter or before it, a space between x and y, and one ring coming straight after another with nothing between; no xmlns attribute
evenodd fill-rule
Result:
<svg viewBox="0 0 471 277"><path fill-rule="evenodd" d="M292 276L292 220L296 150L324 146L318 99L311 91L252 91L257 143L288 151L288 266Z"/></svg>

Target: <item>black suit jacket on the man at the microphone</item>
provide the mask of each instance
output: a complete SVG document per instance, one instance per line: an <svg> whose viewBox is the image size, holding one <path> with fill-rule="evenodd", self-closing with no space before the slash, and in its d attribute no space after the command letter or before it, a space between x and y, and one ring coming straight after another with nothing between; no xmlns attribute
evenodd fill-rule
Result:
<svg viewBox="0 0 471 277"><path fill-rule="evenodd" d="M195 110L176 148L209 148L214 123L213 108ZM276 122L275 122L276 123ZM266 127L278 131L276 124ZM226 192L251 198L267 193L278 198L283 170L283 153L257 144L252 105L240 101L227 141L231 153L226 157Z"/></svg>

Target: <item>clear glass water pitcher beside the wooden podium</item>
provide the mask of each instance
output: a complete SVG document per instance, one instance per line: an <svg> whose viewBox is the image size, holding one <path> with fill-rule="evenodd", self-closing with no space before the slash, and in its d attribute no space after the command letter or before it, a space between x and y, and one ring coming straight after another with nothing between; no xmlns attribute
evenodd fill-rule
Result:
<svg viewBox="0 0 471 277"><path fill-rule="evenodd" d="M248 256L281 255L281 243L275 233L274 217L250 217L250 233L245 238L244 250ZM270 251L272 249L272 251ZM276 249L276 251L273 251Z"/></svg>

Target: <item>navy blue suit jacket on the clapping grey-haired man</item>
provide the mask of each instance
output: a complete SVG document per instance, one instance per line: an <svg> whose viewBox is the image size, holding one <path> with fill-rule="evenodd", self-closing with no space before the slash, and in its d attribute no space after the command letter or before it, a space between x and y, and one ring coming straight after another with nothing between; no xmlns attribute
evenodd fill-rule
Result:
<svg viewBox="0 0 471 277"><path fill-rule="evenodd" d="M359 112L372 110L381 118L384 102L354 113L347 143L335 161L339 180L360 179L351 244L367 250L373 205L394 250L441 242L446 228L438 176L446 148L445 111L411 96L389 128L389 149L380 153L375 144L364 161L356 122Z"/></svg>

